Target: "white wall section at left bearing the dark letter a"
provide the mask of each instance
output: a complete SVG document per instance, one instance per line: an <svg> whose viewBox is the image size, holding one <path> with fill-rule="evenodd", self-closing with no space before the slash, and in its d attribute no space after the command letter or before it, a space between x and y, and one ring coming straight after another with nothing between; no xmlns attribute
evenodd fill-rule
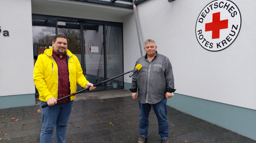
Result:
<svg viewBox="0 0 256 143"><path fill-rule="evenodd" d="M0 5L0 96L34 94L31 0ZM4 30L9 36L3 36Z"/></svg>

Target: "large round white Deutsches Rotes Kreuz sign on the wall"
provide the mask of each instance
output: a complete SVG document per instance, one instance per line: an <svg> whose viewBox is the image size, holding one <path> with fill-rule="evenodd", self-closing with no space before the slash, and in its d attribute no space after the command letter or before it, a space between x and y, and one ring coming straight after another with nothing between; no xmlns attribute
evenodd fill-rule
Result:
<svg viewBox="0 0 256 143"><path fill-rule="evenodd" d="M212 1L197 18L196 35L206 50L220 51L235 41L241 28L241 14L228 0Z"/></svg>

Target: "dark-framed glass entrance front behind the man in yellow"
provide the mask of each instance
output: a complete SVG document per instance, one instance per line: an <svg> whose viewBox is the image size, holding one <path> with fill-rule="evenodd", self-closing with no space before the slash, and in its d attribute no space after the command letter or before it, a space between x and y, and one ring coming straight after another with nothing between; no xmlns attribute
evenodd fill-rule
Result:
<svg viewBox="0 0 256 143"><path fill-rule="evenodd" d="M56 34L63 34L68 38L68 49L77 56L89 82L99 83L124 72L123 24L54 16L32 17L34 61L45 49L51 48ZM121 76L90 92L123 88ZM77 85L77 91L81 89Z"/></svg>

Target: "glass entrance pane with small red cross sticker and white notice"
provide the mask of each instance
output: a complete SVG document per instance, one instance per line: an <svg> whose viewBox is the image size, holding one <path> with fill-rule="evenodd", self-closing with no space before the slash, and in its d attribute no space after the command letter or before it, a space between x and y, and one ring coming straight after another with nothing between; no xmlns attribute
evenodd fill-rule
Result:
<svg viewBox="0 0 256 143"><path fill-rule="evenodd" d="M84 66L86 78L95 84L105 80L103 26L83 24ZM105 84L98 86L96 91L105 90Z"/></svg>

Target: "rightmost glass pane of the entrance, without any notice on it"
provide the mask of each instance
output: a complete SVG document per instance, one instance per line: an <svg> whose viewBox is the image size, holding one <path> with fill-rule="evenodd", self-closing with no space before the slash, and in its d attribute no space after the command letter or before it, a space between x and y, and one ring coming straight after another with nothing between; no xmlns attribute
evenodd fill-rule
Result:
<svg viewBox="0 0 256 143"><path fill-rule="evenodd" d="M106 26L107 79L123 74L123 33L121 27ZM107 82L107 89L123 89L124 76Z"/></svg>

